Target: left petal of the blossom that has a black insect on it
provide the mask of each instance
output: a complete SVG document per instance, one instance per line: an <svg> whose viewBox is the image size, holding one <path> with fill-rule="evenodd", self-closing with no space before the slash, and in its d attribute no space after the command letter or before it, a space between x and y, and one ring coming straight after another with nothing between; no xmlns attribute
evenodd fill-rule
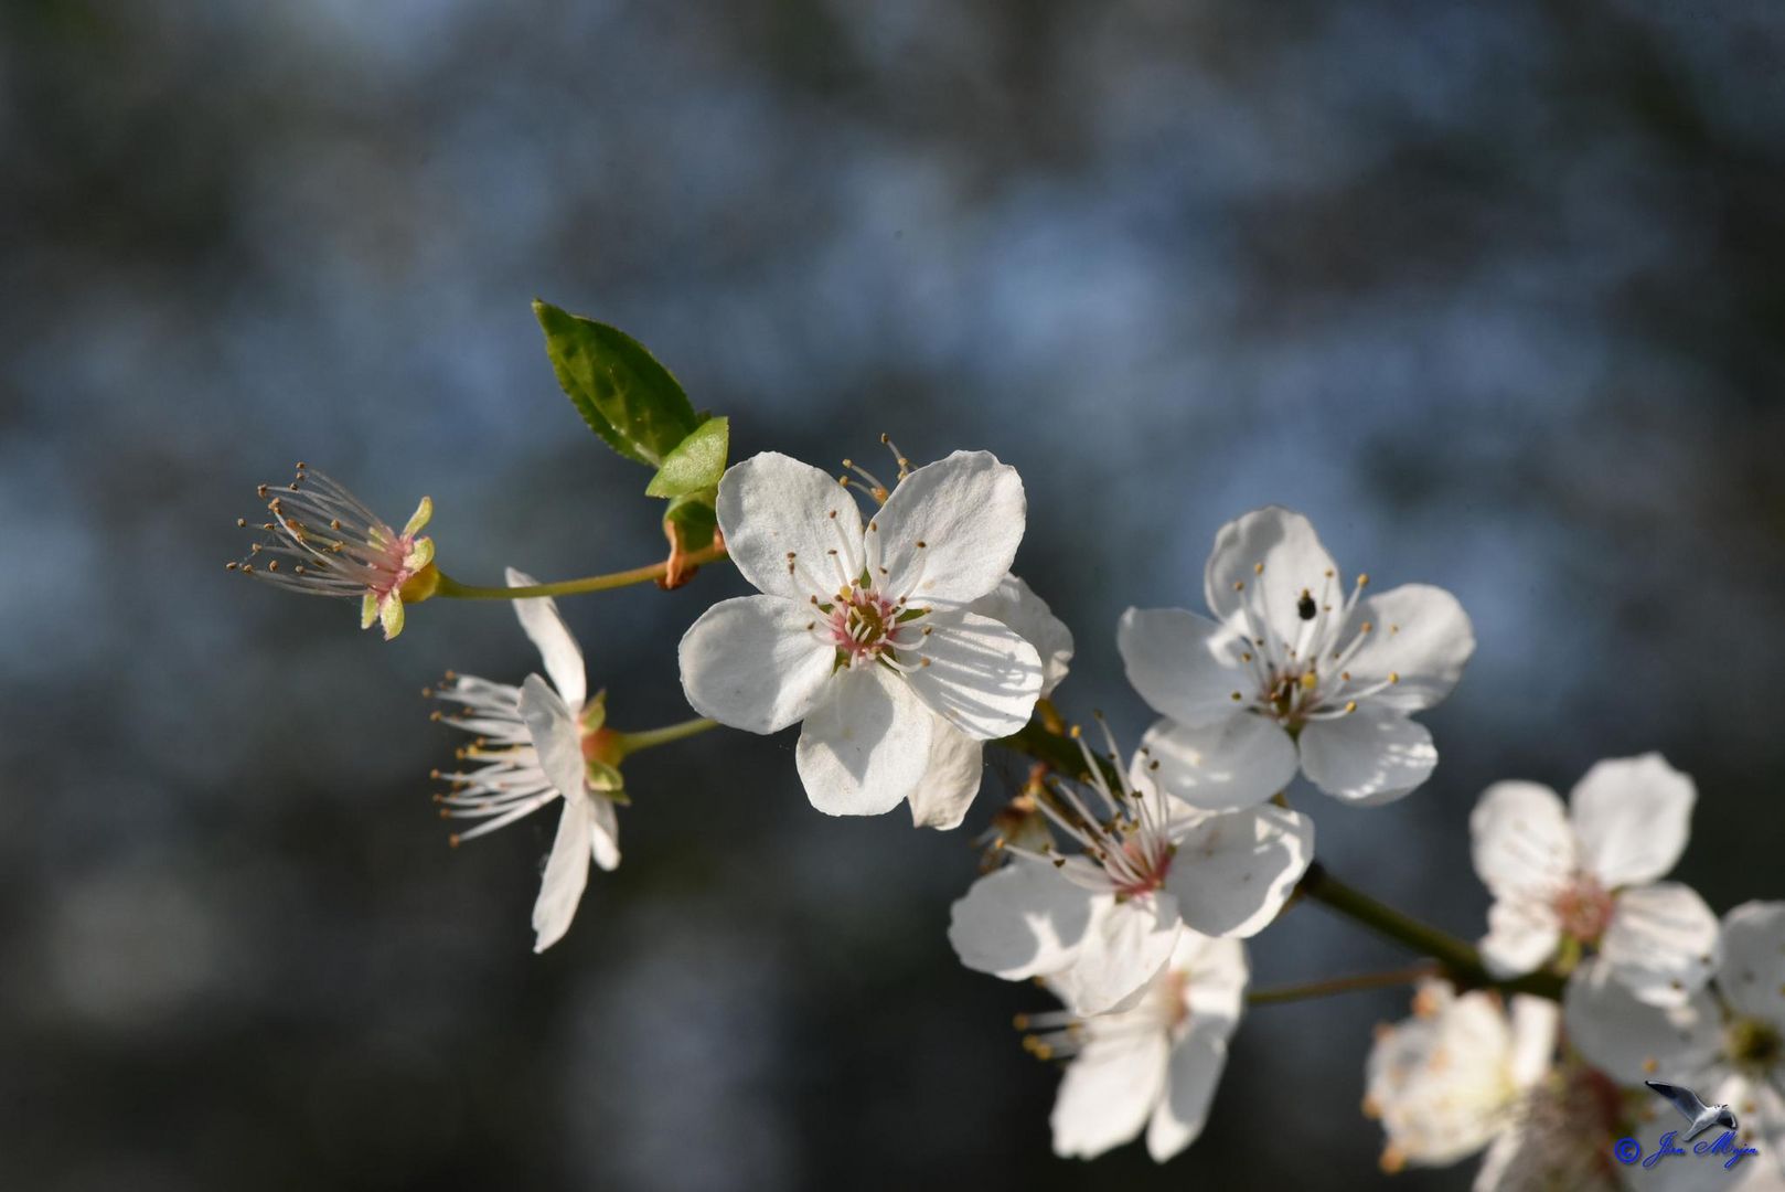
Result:
<svg viewBox="0 0 1785 1192"><path fill-rule="evenodd" d="M1232 720L1257 679L1233 629L1182 608L1130 608L1116 627L1128 683L1153 711L1194 727Z"/></svg>

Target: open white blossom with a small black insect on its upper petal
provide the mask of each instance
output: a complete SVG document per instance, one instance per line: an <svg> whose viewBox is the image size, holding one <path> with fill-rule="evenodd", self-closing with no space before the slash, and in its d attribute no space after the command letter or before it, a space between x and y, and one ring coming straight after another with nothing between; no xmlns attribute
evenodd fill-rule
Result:
<svg viewBox="0 0 1785 1192"><path fill-rule="evenodd" d="M1185 801L1264 802L1299 768L1335 799L1374 806L1430 777L1437 751L1416 711L1442 701L1474 652L1457 597L1428 584L1346 592L1299 513L1228 522L1203 574L1214 618L1128 609L1128 681L1166 718L1146 745Z"/></svg>

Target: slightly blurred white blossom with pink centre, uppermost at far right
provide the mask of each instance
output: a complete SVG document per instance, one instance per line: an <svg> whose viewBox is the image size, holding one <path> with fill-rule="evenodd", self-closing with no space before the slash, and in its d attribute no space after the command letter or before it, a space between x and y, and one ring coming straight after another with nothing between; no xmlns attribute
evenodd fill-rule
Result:
<svg viewBox="0 0 1785 1192"><path fill-rule="evenodd" d="M1560 947L1596 949L1651 1006L1678 1006L1717 965L1717 917L1690 886L1656 881L1690 835L1692 779L1660 754L1599 761L1569 806L1537 783L1496 783L1469 817L1474 870L1494 894L1482 958L1499 978Z"/></svg>

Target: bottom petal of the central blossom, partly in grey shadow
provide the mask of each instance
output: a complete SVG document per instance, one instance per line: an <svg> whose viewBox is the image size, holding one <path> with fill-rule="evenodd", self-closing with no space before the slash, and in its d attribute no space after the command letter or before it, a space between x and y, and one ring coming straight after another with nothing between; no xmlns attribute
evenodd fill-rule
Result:
<svg viewBox="0 0 1785 1192"><path fill-rule="evenodd" d="M930 765L935 717L885 667L839 670L805 717L794 767L825 815L880 815L903 802Z"/></svg>

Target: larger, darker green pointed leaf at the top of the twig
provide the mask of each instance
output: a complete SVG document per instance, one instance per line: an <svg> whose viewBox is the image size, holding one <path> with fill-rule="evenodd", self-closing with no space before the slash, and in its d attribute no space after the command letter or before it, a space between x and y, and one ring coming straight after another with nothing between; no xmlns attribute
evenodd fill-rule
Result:
<svg viewBox="0 0 1785 1192"><path fill-rule="evenodd" d="M627 332L550 302L536 300L534 315L564 395L621 456L660 466L700 425L677 379Z"/></svg>

